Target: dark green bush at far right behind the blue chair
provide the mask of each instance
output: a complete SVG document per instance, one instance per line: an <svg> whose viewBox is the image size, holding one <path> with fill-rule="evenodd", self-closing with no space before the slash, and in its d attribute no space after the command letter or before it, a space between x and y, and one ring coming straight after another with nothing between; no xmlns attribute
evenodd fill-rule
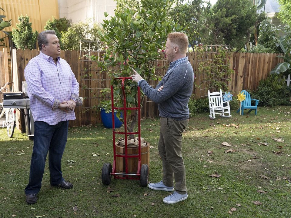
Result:
<svg viewBox="0 0 291 218"><path fill-rule="evenodd" d="M291 89L286 86L285 80L278 74L271 74L259 82L257 90L251 96L260 100L260 106L273 107L291 105L290 94Z"/></svg>

